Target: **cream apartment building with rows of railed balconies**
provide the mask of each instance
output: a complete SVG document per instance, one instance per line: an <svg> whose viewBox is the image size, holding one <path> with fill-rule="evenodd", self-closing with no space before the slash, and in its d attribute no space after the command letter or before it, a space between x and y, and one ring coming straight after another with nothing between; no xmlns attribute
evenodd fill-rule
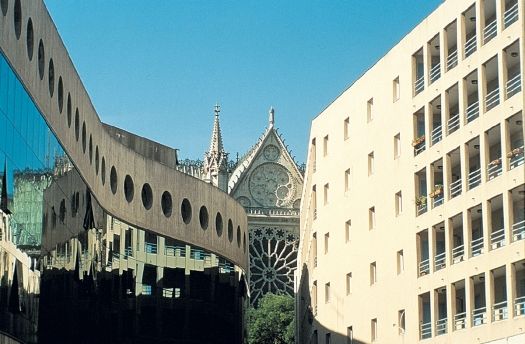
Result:
<svg viewBox="0 0 525 344"><path fill-rule="evenodd" d="M444 1L312 121L298 343L525 343L524 11Z"/></svg>

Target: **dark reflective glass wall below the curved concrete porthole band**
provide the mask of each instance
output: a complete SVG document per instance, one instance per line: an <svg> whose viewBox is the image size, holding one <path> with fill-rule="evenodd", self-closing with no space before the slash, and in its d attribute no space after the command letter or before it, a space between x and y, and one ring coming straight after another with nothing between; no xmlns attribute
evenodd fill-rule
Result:
<svg viewBox="0 0 525 344"><path fill-rule="evenodd" d="M3 55L0 110L12 238L41 254L39 312L29 316L24 305L36 297L4 272L0 330L33 343L13 317L38 315L39 343L242 342L244 272L102 209Z"/></svg>

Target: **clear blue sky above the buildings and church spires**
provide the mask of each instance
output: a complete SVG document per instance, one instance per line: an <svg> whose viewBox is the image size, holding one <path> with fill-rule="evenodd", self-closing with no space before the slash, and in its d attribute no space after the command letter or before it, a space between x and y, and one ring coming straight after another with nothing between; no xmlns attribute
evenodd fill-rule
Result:
<svg viewBox="0 0 525 344"><path fill-rule="evenodd" d="M292 154L310 123L442 0L45 0L102 121L202 158L222 106L231 158L274 106Z"/></svg>

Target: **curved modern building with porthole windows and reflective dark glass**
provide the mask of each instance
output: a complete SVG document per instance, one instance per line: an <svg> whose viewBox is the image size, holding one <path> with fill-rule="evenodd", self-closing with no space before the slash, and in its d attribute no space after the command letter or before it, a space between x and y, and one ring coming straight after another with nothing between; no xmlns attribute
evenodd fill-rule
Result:
<svg viewBox="0 0 525 344"><path fill-rule="evenodd" d="M244 208L100 121L42 1L0 9L2 209L41 228L39 342L242 343Z"/></svg>

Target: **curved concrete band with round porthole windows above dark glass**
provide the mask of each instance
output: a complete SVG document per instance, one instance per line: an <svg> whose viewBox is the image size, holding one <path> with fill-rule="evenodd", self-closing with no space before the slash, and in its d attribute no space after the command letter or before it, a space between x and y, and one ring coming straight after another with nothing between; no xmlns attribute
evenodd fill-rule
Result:
<svg viewBox="0 0 525 344"><path fill-rule="evenodd" d="M2 3L7 3L7 12L0 13L0 48L97 203L107 213L136 227L202 247L247 271L248 233L243 207L219 189L175 170L166 160L147 157L115 139L100 121L43 2L6 0ZM29 20L33 28L32 58L28 53ZM162 145L150 142L150 147L154 152L166 152ZM110 176L113 167L116 180ZM124 194L127 175L133 181L131 201ZM146 209L141 200L145 183L152 191L150 209ZM170 216L164 215L161 205L161 196L166 191L172 199ZM191 204L192 216L188 223L181 216L184 199ZM202 206L206 207L209 217L206 230L199 221ZM214 224L218 212L225 223L232 221L234 235L228 235L227 230L221 236L217 234ZM44 244L43 251L53 244Z"/></svg>

